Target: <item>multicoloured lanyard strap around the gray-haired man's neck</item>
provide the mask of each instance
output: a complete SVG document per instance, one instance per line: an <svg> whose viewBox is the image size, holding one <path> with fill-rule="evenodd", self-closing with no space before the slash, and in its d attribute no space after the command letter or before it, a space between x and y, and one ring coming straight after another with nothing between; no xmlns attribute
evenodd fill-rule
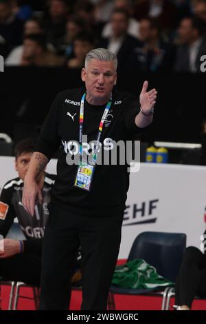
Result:
<svg viewBox="0 0 206 324"><path fill-rule="evenodd" d="M81 99L81 105L80 105L80 133L79 133L79 143L80 143L80 157L82 158L82 134L83 134L83 123L84 123L84 99L86 97L86 92L84 92L82 99ZM93 152L93 161L96 161L97 154L99 146L100 146L100 136L102 133L102 128L104 125L104 121L106 119L106 115L108 114L108 110L111 108L112 103L112 97L110 97L108 103L106 103L106 108L104 110L104 113L102 115L102 119L100 121L99 130L98 130L98 136L97 136L97 145L95 146L95 152Z"/></svg>

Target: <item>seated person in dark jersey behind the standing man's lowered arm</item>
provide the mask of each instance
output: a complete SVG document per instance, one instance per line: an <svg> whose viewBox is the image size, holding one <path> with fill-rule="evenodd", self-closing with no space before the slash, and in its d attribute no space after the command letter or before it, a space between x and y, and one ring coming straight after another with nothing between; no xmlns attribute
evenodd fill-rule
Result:
<svg viewBox="0 0 206 324"><path fill-rule="evenodd" d="M3 240L4 250L0 251L0 277L3 280L23 281L30 285L40 285L43 235L49 216L47 205L56 177L54 174L41 172L38 177L40 188L38 198L41 203L36 202L34 216L28 214L21 203L23 180L35 144L34 139L24 139L16 144L14 148L15 168L19 176L5 183L0 196L0 234L5 237L14 219L17 219L25 236L22 241L8 238ZM80 251L75 269L79 267ZM75 270L73 270L73 275L73 278L80 279Z"/></svg>

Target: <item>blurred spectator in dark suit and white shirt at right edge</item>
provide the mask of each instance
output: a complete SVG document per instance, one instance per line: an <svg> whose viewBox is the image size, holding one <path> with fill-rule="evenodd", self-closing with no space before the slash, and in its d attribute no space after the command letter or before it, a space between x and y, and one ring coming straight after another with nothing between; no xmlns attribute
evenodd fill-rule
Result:
<svg viewBox="0 0 206 324"><path fill-rule="evenodd" d="M181 20L178 32L174 70L200 72L201 56L206 53L205 23L196 17L187 17Z"/></svg>

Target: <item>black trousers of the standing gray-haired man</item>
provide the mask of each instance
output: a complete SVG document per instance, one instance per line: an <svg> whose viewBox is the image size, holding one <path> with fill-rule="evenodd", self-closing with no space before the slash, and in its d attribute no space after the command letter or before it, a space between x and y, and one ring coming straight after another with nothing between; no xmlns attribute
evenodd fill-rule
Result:
<svg viewBox="0 0 206 324"><path fill-rule="evenodd" d="M43 240L40 310L68 310L71 269L82 251L81 310L106 310L117 263L123 213L80 216L50 205Z"/></svg>

